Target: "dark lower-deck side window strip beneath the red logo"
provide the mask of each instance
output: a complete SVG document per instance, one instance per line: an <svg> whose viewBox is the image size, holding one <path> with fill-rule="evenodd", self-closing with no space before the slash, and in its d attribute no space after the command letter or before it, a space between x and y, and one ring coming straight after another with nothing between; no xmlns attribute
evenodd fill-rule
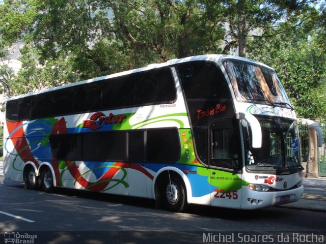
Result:
<svg viewBox="0 0 326 244"><path fill-rule="evenodd" d="M177 128L50 135L53 157L70 161L174 163L181 154Z"/></svg>

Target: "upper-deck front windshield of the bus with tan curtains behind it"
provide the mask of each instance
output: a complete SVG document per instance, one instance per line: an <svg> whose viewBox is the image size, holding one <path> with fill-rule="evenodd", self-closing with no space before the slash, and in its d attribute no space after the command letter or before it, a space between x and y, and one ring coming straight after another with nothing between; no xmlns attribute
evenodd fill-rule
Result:
<svg viewBox="0 0 326 244"><path fill-rule="evenodd" d="M239 102L293 109L274 70L230 60L224 66Z"/></svg>

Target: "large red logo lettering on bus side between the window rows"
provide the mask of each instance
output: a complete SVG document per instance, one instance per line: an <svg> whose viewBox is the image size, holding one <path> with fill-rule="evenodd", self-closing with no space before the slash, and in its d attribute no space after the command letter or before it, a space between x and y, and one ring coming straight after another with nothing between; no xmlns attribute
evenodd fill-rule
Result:
<svg viewBox="0 0 326 244"><path fill-rule="evenodd" d="M122 115L114 115L113 113L110 113L108 116L106 116L102 112L94 113L90 119L84 120L83 127L84 128L90 128L93 131L96 131L100 128L102 128L103 125L108 124L117 124L122 123L122 120L125 119L127 116L125 114Z"/></svg>

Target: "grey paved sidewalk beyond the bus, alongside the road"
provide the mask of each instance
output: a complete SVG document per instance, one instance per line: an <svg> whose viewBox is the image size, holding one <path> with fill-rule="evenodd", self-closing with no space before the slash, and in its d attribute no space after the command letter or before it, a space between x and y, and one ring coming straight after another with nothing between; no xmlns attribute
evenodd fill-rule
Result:
<svg viewBox="0 0 326 244"><path fill-rule="evenodd" d="M4 163L0 161L0 177L4 176ZM306 209L314 211L325 211L326 212L326 179L312 179L304 178L305 190L302 198L293 203L280 205L279 207ZM318 189L318 192L313 192L309 189Z"/></svg>

